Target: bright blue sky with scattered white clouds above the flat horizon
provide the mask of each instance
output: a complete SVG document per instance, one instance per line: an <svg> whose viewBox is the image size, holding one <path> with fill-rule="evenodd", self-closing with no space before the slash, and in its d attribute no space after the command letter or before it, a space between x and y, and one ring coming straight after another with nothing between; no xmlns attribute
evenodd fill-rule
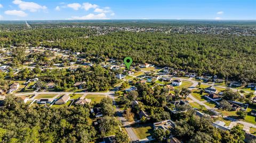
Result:
<svg viewBox="0 0 256 143"><path fill-rule="evenodd" d="M256 0L0 0L1 20L256 20Z"/></svg>

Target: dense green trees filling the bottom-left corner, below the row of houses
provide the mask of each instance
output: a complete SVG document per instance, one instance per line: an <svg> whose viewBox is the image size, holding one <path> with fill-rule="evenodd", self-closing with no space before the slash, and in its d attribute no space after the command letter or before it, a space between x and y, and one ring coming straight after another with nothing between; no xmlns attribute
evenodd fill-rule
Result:
<svg viewBox="0 0 256 143"><path fill-rule="evenodd" d="M29 107L7 96L0 110L0 142L89 142L96 131L84 107Z"/></svg>

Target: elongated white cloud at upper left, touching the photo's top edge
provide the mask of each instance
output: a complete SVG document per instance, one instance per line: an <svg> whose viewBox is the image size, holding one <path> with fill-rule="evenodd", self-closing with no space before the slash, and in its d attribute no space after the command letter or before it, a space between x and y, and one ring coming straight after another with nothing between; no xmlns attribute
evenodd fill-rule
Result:
<svg viewBox="0 0 256 143"><path fill-rule="evenodd" d="M17 4L21 10L25 11L25 10L29 10L30 12L36 12L36 11L39 11L39 10L46 10L47 7L46 6L42 6L42 5L39 5L37 3L34 3L34 2L24 2L24 1L21 1L21 0L14 0L12 2L13 4Z"/></svg>

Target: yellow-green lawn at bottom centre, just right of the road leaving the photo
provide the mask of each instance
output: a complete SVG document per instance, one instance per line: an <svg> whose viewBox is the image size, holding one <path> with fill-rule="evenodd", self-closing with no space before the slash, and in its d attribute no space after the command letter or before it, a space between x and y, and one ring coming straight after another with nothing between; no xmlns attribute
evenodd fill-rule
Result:
<svg viewBox="0 0 256 143"><path fill-rule="evenodd" d="M154 130L150 124L133 124L132 129L139 139L145 139L151 136Z"/></svg>

